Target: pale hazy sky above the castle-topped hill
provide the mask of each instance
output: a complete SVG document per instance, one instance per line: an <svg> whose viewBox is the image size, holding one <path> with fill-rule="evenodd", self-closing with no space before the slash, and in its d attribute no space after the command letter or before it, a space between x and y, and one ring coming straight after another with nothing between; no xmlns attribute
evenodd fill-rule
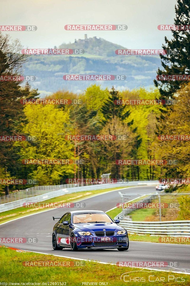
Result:
<svg viewBox="0 0 190 286"><path fill-rule="evenodd" d="M74 39L102 37L128 49L158 49L173 24L176 0L0 0L0 25L36 25L37 31L12 31L23 47L48 48ZM67 24L125 24L126 31L66 31Z"/></svg>

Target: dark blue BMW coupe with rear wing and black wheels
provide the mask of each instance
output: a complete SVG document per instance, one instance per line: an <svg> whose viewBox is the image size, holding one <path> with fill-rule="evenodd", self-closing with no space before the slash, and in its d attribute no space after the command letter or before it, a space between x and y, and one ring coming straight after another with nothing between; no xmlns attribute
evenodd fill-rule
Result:
<svg viewBox="0 0 190 286"><path fill-rule="evenodd" d="M54 250L115 249L128 250L126 229L119 220L112 220L101 210L79 210L65 213L54 225L52 247Z"/></svg>

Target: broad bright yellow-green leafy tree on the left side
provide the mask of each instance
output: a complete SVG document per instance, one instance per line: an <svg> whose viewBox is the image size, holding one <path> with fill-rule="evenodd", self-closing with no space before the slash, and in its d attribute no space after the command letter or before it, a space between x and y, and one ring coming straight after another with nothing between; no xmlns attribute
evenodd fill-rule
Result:
<svg viewBox="0 0 190 286"><path fill-rule="evenodd" d="M39 104L26 105L24 113L28 123L23 126L23 132L35 135L36 140L22 142L19 168L23 166L26 176L37 180L39 185L60 184L63 178L73 174L73 164L22 165L21 159L73 159L72 146L65 139L69 111Z"/></svg>

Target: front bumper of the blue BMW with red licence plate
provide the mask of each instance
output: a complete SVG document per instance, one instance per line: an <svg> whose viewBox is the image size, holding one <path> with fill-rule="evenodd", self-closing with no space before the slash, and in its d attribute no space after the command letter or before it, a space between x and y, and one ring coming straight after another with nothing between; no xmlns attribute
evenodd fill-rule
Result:
<svg viewBox="0 0 190 286"><path fill-rule="evenodd" d="M110 249L128 246L128 236L125 235L115 235L110 237L110 241L102 241L101 238L108 237L97 237L93 233L93 236L80 236L75 234L77 248L99 248L99 249Z"/></svg>

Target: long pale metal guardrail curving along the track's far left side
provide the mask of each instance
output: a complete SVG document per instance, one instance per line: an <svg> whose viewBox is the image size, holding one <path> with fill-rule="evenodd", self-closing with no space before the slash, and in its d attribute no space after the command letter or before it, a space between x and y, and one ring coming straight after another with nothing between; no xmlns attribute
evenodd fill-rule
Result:
<svg viewBox="0 0 190 286"><path fill-rule="evenodd" d="M99 184L99 185L90 185L90 186L81 186L81 187L70 187L70 188L60 188L59 190L46 192L44 194L38 196L32 196L23 198L21 200L15 200L13 202L8 202L5 204L0 204L0 212L4 212L6 210L12 210L14 208L19 208L23 206L24 202L42 202L44 200L48 200L50 198L55 198L58 196L62 196L64 194L71 194L73 192L82 192L82 191L90 191L90 190L101 190L106 188L116 188L116 187L127 187L127 186L137 186L143 184L158 184L158 181L133 181L133 182L122 182L122 183L113 183L113 184ZM66 185L64 185L66 186ZM43 186L44 187L44 186ZM45 186L50 187L50 186ZM52 186L57 187L57 186Z"/></svg>

